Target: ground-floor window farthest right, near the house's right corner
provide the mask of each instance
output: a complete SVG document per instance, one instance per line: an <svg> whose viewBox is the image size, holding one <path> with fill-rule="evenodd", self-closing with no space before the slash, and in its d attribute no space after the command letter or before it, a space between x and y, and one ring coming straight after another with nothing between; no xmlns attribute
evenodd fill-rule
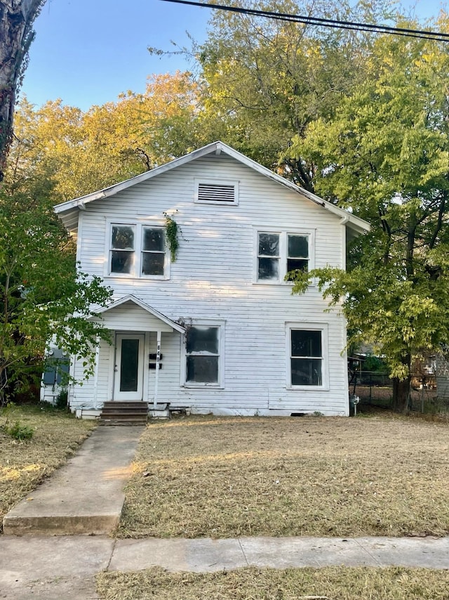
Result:
<svg viewBox="0 0 449 600"><path fill-rule="evenodd" d="M288 327L288 363L291 387L327 385L327 325Z"/></svg>

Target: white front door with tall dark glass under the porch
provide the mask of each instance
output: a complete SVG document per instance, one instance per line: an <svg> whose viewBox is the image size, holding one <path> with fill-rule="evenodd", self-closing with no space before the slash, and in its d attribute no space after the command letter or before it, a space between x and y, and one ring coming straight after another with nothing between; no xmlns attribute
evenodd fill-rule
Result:
<svg viewBox="0 0 449 600"><path fill-rule="evenodd" d="M116 335L114 400L143 399L144 334Z"/></svg>

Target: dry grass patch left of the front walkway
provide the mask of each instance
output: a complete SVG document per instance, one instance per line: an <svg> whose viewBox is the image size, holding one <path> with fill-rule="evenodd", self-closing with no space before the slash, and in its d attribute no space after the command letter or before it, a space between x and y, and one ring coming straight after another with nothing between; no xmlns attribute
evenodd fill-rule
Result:
<svg viewBox="0 0 449 600"><path fill-rule="evenodd" d="M3 429L6 420L32 426L32 439L20 442L8 436ZM74 453L94 426L92 421L39 407L0 411L0 523L9 509Z"/></svg>

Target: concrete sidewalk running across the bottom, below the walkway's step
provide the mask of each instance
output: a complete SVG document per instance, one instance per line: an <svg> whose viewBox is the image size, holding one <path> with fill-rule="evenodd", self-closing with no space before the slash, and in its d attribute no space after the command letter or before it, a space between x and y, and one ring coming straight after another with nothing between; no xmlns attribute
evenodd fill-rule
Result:
<svg viewBox="0 0 449 600"><path fill-rule="evenodd" d="M449 568L449 537L241 537L113 540L107 536L0 537L0 598L94 600L100 570L161 566L208 573L259 568L409 566Z"/></svg>

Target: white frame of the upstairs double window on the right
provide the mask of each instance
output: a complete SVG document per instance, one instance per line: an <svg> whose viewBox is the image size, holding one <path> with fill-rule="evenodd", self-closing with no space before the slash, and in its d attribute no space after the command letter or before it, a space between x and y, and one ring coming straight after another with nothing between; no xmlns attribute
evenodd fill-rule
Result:
<svg viewBox="0 0 449 600"><path fill-rule="evenodd" d="M259 279L259 234L277 233L279 235L279 274L277 279ZM295 228L274 228L274 227L255 227L254 228L254 263L253 263L253 283L257 285L293 285L292 281L286 281L287 253L288 253L288 235L302 235L307 237L309 242L309 266L308 271L315 268L315 230L295 229Z"/></svg>

